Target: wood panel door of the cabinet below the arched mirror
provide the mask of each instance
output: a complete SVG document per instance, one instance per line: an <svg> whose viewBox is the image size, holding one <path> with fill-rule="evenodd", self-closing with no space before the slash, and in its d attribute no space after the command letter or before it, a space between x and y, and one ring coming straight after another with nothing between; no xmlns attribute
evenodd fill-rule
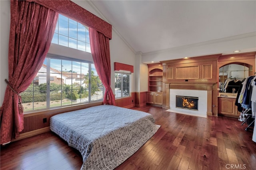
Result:
<svg viewBox="0 0 256 170"><path fill-rule="evenodd" d="M235 116L235 99L219 98L218 110L221 114Z"/></svg>

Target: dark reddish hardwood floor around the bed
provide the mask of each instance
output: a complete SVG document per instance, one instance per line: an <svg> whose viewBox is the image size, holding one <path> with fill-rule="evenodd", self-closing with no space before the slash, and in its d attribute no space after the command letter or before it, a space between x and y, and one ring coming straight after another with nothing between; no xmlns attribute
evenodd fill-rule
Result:
<svg viewBox="0 0 256 170"><path fill-rule="evenodd" d="M116 170L256 169L252 130L237 119L194 117L158 107L133 107L151 113L159 130ZM79 170L80 153L52 132L1 146L1 170Z"/></svg>

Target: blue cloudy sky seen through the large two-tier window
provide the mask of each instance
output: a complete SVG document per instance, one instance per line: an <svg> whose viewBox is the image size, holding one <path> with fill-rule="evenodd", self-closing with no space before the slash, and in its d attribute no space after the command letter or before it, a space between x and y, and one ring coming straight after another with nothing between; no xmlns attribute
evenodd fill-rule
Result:
<svg viewBox="0 0 256 170"><path fill-rule="evenodd" d="M59 14L52 43L91 52L88 28L61 14ZM45 59L44 64L47 64L47 59ZM58 71L61 71L60 68L62 67L62 71L64 72L72 70L76 73L87 74L89 64L68 60L50 59L50 67L57 69ZM92 71L94 71L94 75L96 75L94 64L92 64L91 67Z"/></svg>

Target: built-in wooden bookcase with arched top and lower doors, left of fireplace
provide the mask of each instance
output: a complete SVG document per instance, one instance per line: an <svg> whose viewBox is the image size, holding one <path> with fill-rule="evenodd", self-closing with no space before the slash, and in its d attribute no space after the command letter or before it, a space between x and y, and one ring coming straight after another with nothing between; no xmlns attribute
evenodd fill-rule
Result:
<svg viewBox="0 0 256 170"><path fill-rule="evenodd" d="M148 64L147 103L162 106L163 69L161 64Z"/></svg>

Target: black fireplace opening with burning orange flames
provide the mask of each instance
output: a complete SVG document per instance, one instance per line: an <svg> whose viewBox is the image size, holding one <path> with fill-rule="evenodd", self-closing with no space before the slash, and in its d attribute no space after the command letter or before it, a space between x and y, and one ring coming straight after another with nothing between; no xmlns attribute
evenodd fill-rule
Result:
<svg viewBox="0 0 256 170"><path fill-rule="evenodd" d="M198 111L198 97L176 96L176 108Z"/></svg>

